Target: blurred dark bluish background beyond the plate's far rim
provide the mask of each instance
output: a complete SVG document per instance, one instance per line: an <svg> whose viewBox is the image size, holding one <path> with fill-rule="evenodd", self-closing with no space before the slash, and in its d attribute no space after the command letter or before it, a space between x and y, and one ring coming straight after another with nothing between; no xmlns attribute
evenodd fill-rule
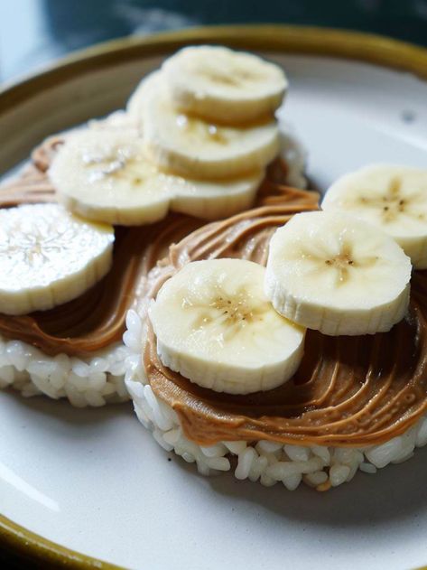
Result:
<svg viewBox="0 0 427 570"><path fill-rule="evenodd" d="M0 0L0 81L129 34L219 23L296 23L427 46L427 0Z"/></svg>

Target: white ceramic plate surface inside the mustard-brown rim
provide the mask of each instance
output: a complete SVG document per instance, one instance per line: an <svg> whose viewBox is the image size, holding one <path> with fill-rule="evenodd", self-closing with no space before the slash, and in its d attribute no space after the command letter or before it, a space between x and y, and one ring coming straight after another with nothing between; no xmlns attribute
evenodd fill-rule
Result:
<svg viewBox="0 0 427 570"><path fill-rule="evenodd" d="M119 62L28 98L19 117L32 121L14 135L13 149L0 150L3 163L48 132L118 106L160 59ZM278 52L274 60L291 83L284 116L307 145L309 174L320 188L369 162L426 166L425 81L360 61ZM39 117L43 105L50 113ZM10 117L8 125L12 133ZM424 448L324 494L266 489L230 474L207 479L165 453L130 405L78 410L0 394L2 515L131 568L420 566L427 563L426 473Z"/></svg>

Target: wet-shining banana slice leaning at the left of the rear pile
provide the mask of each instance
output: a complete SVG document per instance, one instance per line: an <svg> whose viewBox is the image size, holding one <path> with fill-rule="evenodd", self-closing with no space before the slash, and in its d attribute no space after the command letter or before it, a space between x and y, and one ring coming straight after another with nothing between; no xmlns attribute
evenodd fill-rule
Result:
<svg viewBox="0 0 427 570"><path fill-rule="evenodd" d="M89 220L134 226L162 220L171 193L134 130L82 130L52 161L59 200Z"/></svg>

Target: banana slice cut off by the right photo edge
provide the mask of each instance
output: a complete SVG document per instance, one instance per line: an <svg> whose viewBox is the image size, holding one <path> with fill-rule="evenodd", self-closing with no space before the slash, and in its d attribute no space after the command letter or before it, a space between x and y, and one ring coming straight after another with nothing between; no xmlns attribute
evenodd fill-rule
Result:
<svg viewBox="0 0 427 570"><path fill-rule="evenodd" d="M334 182L321 207L375 224L395 238L415 268L427 268L427 170L372 164Z"/></svg>

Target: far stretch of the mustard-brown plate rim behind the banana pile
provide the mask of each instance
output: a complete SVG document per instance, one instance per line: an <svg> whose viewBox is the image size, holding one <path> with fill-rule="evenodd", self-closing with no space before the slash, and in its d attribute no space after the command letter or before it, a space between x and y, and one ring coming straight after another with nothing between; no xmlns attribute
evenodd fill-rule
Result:
<svg viewBox="0 0 427 570"><path fill-rule="evenodd" d="M427 48L382 35L282 24L200 26L146 36L127 36L72 51L53 64L6 83L0 89L0 117L34 93L77 75L122 61L162 55L183 44L200 42L222 42L251 51L284 51L364 61L409 71L427 79Z"/></svg>

